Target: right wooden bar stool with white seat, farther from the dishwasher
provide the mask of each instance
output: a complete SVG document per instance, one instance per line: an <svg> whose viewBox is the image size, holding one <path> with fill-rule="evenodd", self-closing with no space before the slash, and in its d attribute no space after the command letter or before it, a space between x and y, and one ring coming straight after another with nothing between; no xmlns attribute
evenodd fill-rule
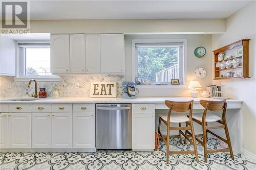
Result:
<svg viewBox="0 0 256 170"><path fill-rule="evenodd" d="M226 100L222 101L206 101L206 100L200 100L200 104L204 107L204 112L203 113L194 113L193 114L193 120L198 123L199 125L202 126L203 129L203 141L200 139L196 138L196 140L201 143L204 147L204 161L207 162L207 154L209 153L215 153L215 152L230 152L230 157L234 159L233 156L233 151L231 147L231 142L229 138L229 133L227 129L227 123L226 123L226 109L227 109L227 103ZM207 110L210 111L222 111L222 118L211 113L207 113ZM208 126L208 122L218 122L221 125L217 126ZM210 129L224 129L226 138L224 139L220 137L219 135L215 134L214 132L210 131ZM228 148L225 149L217 149L217 150L207 150L207 132L218 137L219 139L223 140L228 144ZM188 131L186 131L186 134L191 135Z"/></svg>

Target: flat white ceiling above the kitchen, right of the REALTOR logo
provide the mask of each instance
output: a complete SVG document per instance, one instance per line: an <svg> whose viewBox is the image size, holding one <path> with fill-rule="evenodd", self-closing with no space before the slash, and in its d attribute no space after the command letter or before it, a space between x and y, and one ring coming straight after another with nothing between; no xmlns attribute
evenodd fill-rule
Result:
<svg viewBox="0 0 256 170"><path fill-rule="evenodd" d="M249 1L31 1L31 20L227 18Z"/></svg>

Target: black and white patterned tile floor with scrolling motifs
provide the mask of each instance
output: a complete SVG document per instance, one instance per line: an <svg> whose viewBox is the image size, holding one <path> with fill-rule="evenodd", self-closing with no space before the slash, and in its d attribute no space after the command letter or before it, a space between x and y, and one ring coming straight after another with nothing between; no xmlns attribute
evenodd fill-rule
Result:
<svg viewBox="0 0 256 170"><path fill-rule="evenodd" d="M191 150L190 144L180 144L179 138L172 138L170 150ZM208 154L208 162L204 162L203 148L198 146L199 163L194 155L170 155L169 164L166 164L166 147L160 143L156 152L133 151L106 151L94 153L0 153L0 169L34 169L34 170L80 170L80 169L105 169L105 170L154 170L154 169L256 169L253 162L238 153L234 153L234 160L229 153ZM219 143L208 142L208 148L220 148Z"/></svg>

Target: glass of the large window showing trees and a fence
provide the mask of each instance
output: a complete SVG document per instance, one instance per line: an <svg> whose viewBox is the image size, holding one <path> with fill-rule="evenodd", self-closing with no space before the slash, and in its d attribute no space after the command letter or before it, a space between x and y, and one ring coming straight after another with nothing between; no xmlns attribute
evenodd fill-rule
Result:
<svg viewBox="0 0 256 170"><path fill-rule="evenodd" d="M178 47L138 47L138 77L150 82L178 78Z"/></svg>

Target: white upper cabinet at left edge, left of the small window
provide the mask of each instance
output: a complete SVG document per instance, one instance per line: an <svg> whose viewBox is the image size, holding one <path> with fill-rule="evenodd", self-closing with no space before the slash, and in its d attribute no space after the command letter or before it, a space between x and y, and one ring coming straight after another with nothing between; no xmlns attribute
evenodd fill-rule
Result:
<svg viewBox="0 0 256 170"><path fill-rule="evenodd" d="M0 75L15 76L16 43L0 36Z"/></svg>

